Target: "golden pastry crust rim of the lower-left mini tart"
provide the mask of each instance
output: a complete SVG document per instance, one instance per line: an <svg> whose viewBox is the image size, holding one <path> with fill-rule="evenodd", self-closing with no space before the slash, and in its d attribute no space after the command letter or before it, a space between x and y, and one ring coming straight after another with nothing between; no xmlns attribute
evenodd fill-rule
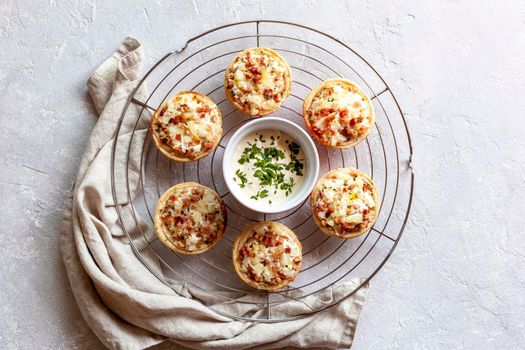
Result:
<svg viewBox="0 0 525 350"><path fill-rule="evenodd" d="M222 224L218 224L218 228L219 229L218 229L218 231L216 233L215 240L211 244L208 244L206 247L203 247L203 248L198 249L198 250L193 250L193 251L185 250L185 249L182 249L182 248L178 247L170 239L170 232L166 228L165 224L162 221L162 211L163 211L166 203L170 199L170 197L174 193L176 193L177 191L184 190L184 189L189 189L189 188L201 189L201 190L203 190L205 192L208 192L208 193L212 194L213 198L215 200L217 200L217 202L219 203L219 212L220 212L220 215L223 218ZM178 200L183 200L183 198L179 198ZM217 216L215 220L219 220L219 219L220 219L220 216ZM175 186L171 187L170 189L168 189L166 192L164 192L162 194L160 199L157 201L157 206L155 208L155 215L154 215L154 218L153 218L153 223L154 223L154 226L155 226L155 232L157 233L157 237L168 248L170 248L171 250L173 250L173 251L175 251L177 253L181 253L181 254L185 254L185 255L194 255L194 254L203 253L203 252L213 248L221 240L222 235L224 233L224 230L226 228L226 220L227 220L226 207L224 205L224 202L223 202L222 198L217 194L217 192L215 192L214 190L212 190L209 187L203 186L203 185L198 184L196 182L184 182L184 183L181 183L181 184L178 184L178 185L175 185Z"/></svg>

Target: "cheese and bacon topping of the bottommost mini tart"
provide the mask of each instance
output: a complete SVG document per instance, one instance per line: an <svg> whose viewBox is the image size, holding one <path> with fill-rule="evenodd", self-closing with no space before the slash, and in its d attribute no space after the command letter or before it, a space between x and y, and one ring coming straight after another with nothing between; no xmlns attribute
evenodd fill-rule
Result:
<svg viewBox="0 0 525 350"><path fill-rule="evenodd" d="M240 271L250 280L268 286L292 281L301 264L301 248L273 225L256 226L238 253Z"/></svg>

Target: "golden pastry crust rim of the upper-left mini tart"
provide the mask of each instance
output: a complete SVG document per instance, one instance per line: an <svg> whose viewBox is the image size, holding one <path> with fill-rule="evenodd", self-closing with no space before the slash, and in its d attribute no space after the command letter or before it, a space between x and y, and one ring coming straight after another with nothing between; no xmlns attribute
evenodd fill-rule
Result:
<svg viewBox="0 0 525 350"><path fill-rule="evenodd" d="M182 95L189 95L189 96L195 96L195 98L199 99L204 103L206 106L210 108L210 110L215 111L217 113L216 122L219 126L218 132L214 133L210 141L209 146L207 149L201 149L198 152L194 153L188 153L188 154L181 154L180 152L177 152L173 147L166 144L166 142L163 142L161 140L160 132L157 130L156 126L159 124L159 119L164 115L166 112L166 108L169 101L175 102L175 99L178 96ZM177 122L177 124L181 124L181 121ZM153 113L153 117L151 118L151 124L150 124L150 132L151 136L153 138L153 142L155 142L155 145L157 148L164 154L166 157L173 159L177 162L193 162L196 160L199 160L201 158L206 157L208 154L210 154L217 146L219 145L219 142L221 140L222 136L222 117L221 117L221 111L219 110L219 107L213 102L208 96L203 95L196 91L180 91L177 95L170 97L168 100L164 101L164 103Z"/></svg>

